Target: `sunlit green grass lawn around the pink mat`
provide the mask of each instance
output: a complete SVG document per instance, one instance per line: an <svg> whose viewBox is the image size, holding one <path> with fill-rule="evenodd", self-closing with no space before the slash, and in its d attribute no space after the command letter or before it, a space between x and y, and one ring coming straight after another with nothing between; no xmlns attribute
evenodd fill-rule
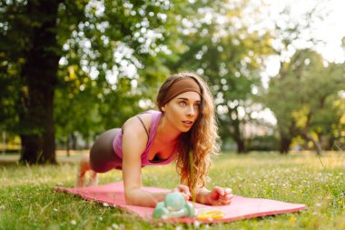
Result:
<svg viewBox="0 0 345 230"><path fill-rule="evenodd" d="M322 164L321 164L322 162ZM143 168L143 184L173 188L173 165ZM233 193L307 205L300 213L252 218L217 225L152 225L94 202L56 193L74 185L74 164L0 165L0 229L345 229L345 153L219 155L210 187ZM100 184L121 179L113 170Z"/></svg>

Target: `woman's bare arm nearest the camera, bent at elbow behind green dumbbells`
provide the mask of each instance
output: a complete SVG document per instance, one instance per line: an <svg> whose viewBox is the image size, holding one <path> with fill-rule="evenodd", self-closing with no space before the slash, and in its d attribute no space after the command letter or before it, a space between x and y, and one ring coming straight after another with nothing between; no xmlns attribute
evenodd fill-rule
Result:
<svg viewBox="0 0 345 230"><path fill-rule="evenodd" d="M152 193L142 189L142 154L147 145L147 135L140 121L134 117L125 124L123 132L123 186L127 205L154 207L170 192ZM187 186L176 188L185 199L189 198Z"/></svg>

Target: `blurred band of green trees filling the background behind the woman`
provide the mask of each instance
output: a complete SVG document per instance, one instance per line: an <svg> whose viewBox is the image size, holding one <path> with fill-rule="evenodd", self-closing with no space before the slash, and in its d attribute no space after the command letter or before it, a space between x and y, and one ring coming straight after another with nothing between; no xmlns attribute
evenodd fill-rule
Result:
<svg viewBox="0 0 345 230"><path fill-rule="evenodd" d="M4 144L19 136L22 162L54 163L55 144L67 152L76 144L88 148L104 130L154 108L163 79L186 70L212 88L224 148L341 148L345 64L326 61L310 33L326 15L316 5L296 21L286 8L280 21L270 21L268 6L1 1ZM264 83L270 58L279 71Z"/></svg>

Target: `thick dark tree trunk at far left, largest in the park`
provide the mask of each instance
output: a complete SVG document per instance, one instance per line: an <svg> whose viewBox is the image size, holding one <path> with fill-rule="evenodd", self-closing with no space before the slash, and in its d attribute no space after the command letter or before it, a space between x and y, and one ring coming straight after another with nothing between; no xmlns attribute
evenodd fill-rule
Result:
<svg viewBox="0 0 345 230"><path fill-rule="evenodd" d="M57 55L58 0L28 1L27 15L40 18L32 24L32 34L25 49L22 68L23 90L20 123L21 162L27 164L56 163L54 144L54 88L60 56ZM33 19L34 20L34 19Z"/></svg>

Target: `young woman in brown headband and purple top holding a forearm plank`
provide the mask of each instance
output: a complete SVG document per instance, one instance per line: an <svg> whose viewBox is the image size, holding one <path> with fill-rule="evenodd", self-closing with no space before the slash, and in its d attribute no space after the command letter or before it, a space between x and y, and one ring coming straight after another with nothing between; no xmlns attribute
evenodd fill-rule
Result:
<svg viewBox="0 0 345 230"><path fill-rule="evenodd" d="M218 151L213 99L206 83L192 73L171 75L161 86L156 104L159 111L135 115L122 129L97 138L89 159L81 163L76 186L84 186L88 170L93 172L93 182L96 173L121 169L126 203L155 206L167 193L142 189L142 167L175 160L181 185L173 191L205 205L229 205L230 188L215 186L210 191L204 187L210 155Z"/></svg>

